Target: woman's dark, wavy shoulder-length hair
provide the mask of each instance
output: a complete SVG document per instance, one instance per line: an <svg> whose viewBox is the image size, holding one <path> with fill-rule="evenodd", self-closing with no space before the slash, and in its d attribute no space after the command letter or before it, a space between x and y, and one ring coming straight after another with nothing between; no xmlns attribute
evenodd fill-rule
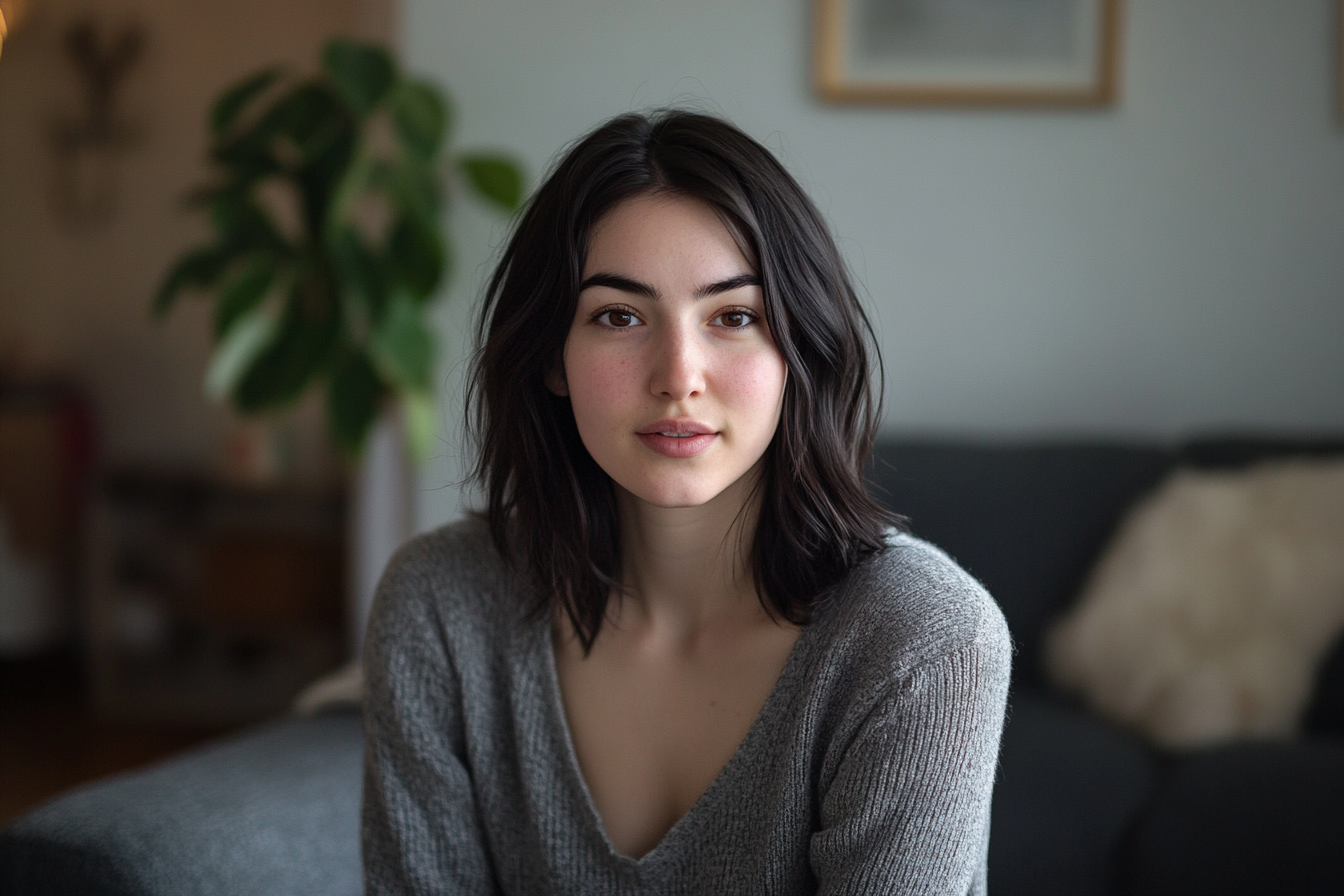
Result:
<svg viewBox="0 0 1344 896"><path fill-rule="evenodd" d="M559 603L585 650L620 588L616 493L569 399L546 380L563 363L594 224L659 192L718 212L761 278L789 371L757 482L750 563L762 606L806 623L894 523L863 484L878 414L872 328L820 212L765 146L724 121L681 110L613 118L528 201L489 281L468 395L495 544L531 578L535 609Z"/></svg>

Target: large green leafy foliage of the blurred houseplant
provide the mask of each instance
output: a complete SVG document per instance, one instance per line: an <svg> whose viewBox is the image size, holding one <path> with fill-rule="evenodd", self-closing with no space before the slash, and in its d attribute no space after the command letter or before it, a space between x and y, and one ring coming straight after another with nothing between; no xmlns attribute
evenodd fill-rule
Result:
<svg viewBox="0 0 1344 896"><path fill-rule="evenodd" d="M403 406L411 453L435 431L435 340L426 309L450 266L441 226L457 184L505 212L519 167L445 149L449 105L378 46L336 39L310 78L259 71L210 113L211 181L191 193L212 239L181 255L155 297L214 301L206 388L245 415L325 388L331 435L360 454L380 408Z"/></svg>

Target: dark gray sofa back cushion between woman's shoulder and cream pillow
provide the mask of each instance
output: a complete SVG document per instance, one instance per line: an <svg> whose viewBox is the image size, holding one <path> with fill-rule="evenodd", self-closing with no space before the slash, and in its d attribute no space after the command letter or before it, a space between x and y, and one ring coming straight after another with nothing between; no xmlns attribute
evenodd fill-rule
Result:
<svg viewBox="0 0 1344 896"><path fill-rule="evenodd" d="M999 600L1019 647L1013 680L1042 680L1046 623L1078 591L1120 516L1175 451L1106 443L882 439L874 497L950 553Z"/></svg>

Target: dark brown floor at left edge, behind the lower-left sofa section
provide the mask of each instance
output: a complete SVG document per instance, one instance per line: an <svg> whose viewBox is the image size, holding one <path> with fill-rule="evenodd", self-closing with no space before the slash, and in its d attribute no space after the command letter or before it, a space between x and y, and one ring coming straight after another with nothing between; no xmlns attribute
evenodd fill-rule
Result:
<svg viewBox="0 0 1344 896"><path fill-rule="evenodd" d="M73 650L0 660L0 825L75 785L222 733L99 717L87 707Z"/></svg>

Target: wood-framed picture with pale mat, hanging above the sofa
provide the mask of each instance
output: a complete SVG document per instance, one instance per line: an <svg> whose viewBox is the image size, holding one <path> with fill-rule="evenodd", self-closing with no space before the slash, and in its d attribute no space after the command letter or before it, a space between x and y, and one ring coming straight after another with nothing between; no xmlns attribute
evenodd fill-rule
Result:
<svg viewBox="0 0 1344 896"><path fill-rule="evenodd" d="M1121 0L813 0L833 102L1105 106Z"/></svg>

